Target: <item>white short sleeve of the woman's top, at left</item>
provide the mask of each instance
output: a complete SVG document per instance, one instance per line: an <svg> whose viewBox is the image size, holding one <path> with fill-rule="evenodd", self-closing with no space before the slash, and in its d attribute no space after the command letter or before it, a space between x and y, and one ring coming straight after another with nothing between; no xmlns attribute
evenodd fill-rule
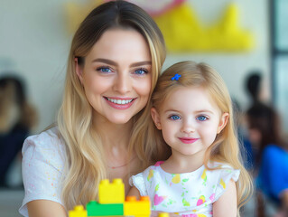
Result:
<svg viewBox="0 0 288 217"><path fill-rule="evenodd" d="M19 212L28 216L27 203L49 200L63 205L60 183L65 163L65 145L58 127L26 138L23 143L23 184L25 196Z"/></svg>

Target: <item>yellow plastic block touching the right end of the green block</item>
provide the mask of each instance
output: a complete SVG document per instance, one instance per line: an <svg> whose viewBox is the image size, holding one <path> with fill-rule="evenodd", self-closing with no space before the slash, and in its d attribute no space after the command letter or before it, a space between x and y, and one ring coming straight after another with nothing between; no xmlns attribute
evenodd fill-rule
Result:
<svg viewBox="0 0 288 217"><path fill-rule="evenodd" d="M150 216L150 199L149 196L141 196L137 201L135 196L127 196L124 203L124 215L135 217Z"/></svg>

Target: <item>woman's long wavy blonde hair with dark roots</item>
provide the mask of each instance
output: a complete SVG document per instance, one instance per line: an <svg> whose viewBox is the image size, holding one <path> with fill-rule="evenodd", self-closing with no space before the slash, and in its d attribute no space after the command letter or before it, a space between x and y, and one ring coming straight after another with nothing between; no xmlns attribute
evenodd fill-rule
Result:
<svg viewBox="0 0 288 217"><path fill-rule="evenodd" d="M163 34L153 19L136 5L125 1L99 5L79 25L71 43L63 102L58 116L60 135L67 150L61 194L66 209L97 199L98 183L107 178L101 135L92 128L92 108L76 74L75 58L78 58L79 66L83 66L85 56L93 45L104 32L112 28L133 29L144 36L152 57L151 92L165 60ZM155 141L147 137L150 108L149 98L147 106L133 118L134 127L129 144L129 150L135 150L143 166L151 164L159 152L165 154L162 146L157 146Z"/></svg>

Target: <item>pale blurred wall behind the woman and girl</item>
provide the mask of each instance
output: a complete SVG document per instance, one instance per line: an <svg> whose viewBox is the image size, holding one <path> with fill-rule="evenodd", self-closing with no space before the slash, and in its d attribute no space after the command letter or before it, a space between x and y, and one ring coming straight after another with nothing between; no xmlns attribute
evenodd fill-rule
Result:
<svg viewBox="0 0 288 217"><path fill-rule="evenodd" d="M17 71L27 83L28 95L40 113L35 131L50 125L60 106L71 36L66 29L64 4L69 0L0 0L0 76ZM85 2L74 0L73 2ZM88 1L87 1L88 2ZM218 19L230 0L189 0L203 22ZM242 54L168 54L164 69L176 61L206 61L228 84L231 95L245 107L243 82L249 70L269 71L267 0L234 1L241 25L255 33L256 48Z"/></svg>

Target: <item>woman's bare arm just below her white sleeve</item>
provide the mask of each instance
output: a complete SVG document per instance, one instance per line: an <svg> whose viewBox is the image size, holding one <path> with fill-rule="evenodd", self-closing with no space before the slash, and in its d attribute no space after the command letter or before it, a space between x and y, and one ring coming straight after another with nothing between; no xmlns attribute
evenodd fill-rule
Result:
<svg viewBox="0 0 288 217"><path fill-rule="evenodd" d="M60 203L36 200L27 203L29 217L67 217L68 213Z"/></svg>

